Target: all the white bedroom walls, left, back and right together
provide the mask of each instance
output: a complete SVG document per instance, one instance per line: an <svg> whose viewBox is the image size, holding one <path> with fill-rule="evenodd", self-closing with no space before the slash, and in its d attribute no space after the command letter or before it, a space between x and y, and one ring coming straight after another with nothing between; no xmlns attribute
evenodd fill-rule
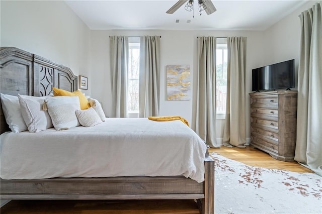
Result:
<svg viewBox="0 0 322 214"><path fill-rule="evenodd" d="M1 46L15 46L70 67L89 77L85 93L103 103L111 116L109 36L158 35L161 38L160 115L180 115L192 124L196 99L197 37L246 36L246 130L250 137L251 71L253 68L299 57L298 15L317 1L309 1L266 31L90 31L61 1L1 1ZM189 64L192 93L188 101L166 100L166 65ZM297 76L297 69L296 69ZM297 83L296 83L297 84ZM217 138L223 121L217 120Z"/></svg>

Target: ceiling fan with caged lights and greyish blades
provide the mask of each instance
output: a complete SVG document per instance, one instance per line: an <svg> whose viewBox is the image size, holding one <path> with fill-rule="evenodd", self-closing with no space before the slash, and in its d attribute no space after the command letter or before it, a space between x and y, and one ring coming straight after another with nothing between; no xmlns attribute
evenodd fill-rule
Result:
<svg viewBox="0 0 322 214"><path fill-rule="evenodd" d="M179 0L174 6L172 6L166 13L167 14L173 14L175 13L181 6L183 6L185 3L185 10L186 11L192 11L193 10L193 1L194 0ZM212 14L217 9L212 4L211 0L196 0L198 1L199 5L199 12L205 11L207 15Z"/></svg>

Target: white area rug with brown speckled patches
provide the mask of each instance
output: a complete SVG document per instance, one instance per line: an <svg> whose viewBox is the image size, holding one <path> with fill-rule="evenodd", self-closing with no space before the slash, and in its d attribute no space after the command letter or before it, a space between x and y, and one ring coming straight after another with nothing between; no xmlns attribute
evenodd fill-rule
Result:
<svg viewBox="0 0 322 214"><path fill-rule="evenodd" d="M322 213L322 177L215 159L215 213Z"/></svg>

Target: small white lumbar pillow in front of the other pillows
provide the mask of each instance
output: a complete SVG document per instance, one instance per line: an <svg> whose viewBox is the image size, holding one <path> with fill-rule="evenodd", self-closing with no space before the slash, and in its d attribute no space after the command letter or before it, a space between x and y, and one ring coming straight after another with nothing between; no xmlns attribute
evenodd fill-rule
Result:
<svg viewBox="0 0 322 214"><path fill-rule="evenodd" d="M75 113L79 123L82 126L92 127L103 123L100 119L100 116L92 107L86 110L76 110Z"/></svg>

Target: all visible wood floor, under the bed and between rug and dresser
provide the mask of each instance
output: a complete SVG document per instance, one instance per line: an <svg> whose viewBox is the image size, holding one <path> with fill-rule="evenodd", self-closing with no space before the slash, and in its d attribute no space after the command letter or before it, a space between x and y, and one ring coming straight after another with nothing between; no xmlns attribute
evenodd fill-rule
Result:
<svg viewBox="0 0 322 214"><path fill-rule="evenodd" d="M252 166L311 172L296 162L278 161L267 153L250 147L245 149L221 147L209 149L209 153L211 152ZM0 211L2 214L199 213L194 200L13 200Z"/></svg>

